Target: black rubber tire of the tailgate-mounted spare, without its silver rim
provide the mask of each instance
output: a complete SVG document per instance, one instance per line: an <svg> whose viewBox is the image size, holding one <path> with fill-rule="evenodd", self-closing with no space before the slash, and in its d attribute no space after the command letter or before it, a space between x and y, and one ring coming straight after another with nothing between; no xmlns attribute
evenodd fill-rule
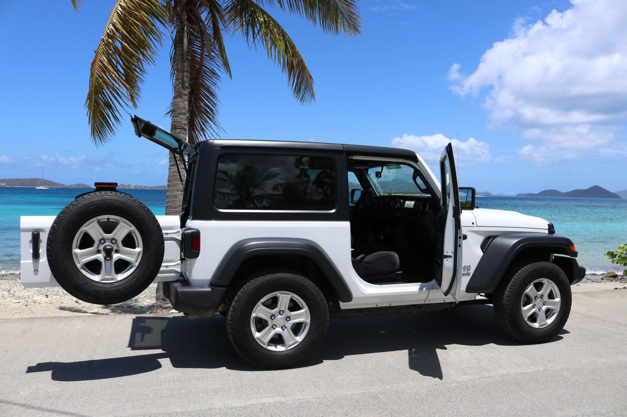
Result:
<svg viewBox="0 0 627 417"><path fill-rule="evenodd" d="M83 224L105 215L130 221L143 244L135 271L113 283L98 283L83 275L72 252L73 240ZM139 200L117 191L96 191L79 196L56 216L46 253L50 271L65 291L86 303L116 304L134 298L152 283L163 262L164 241L159 221Z"/></svg>

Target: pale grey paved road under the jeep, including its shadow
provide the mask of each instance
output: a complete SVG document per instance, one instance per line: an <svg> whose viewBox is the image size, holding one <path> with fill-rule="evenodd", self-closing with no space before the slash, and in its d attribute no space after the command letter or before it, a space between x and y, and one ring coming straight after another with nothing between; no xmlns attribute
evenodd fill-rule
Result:
<svg viewBox="0 0 627 417"><path fill-rule="evenodd" d="M0 415L627 414L627 289L585 285L549 343L463 306L332 321L314 358L280 371L243 361L221 316L0 319Z"/></svg>

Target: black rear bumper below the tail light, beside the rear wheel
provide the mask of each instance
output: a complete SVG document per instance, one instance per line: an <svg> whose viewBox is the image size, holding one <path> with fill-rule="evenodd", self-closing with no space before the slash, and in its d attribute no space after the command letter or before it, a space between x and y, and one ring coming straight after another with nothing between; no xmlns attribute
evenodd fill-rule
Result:
<svg viewBox="0 0 627 417"><path fill-rule="evenodd" d="M165 282L163 294L172 303L172 308L194 316L213 316L224 296L226 288L193 287L184 279Z"/></svg>

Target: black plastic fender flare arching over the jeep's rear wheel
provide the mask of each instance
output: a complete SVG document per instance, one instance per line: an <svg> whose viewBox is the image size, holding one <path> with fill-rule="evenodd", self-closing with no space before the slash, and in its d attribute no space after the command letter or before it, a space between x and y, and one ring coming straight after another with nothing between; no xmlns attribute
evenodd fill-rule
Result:
<svg viewBox="0 0 627 417"><path fill-rule="evenodd" d="M308 239L252 238L238 241L224 254L209 284L226 287L246 259L267 255L297 255L310 259L324 273L324 278L337 293L339 301L342 303L352 301L352 293L333 261L319 244Z"/></svg>

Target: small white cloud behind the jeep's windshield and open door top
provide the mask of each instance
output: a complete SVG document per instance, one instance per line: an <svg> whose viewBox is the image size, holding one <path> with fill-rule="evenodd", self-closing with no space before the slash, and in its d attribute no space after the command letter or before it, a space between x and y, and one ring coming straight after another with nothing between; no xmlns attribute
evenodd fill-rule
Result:
<svg viewBox="0 0 627 417"><path fill-rule="evenodd" d="M457 156L457 149L459 149L460 161L458 163L462 166L492 161L490 145L475 138L463 142L446 138L441 133L431 136L404 134L402 137L392 139L392 146L411 149L416 151L425 161L436 162L440 159L442 151L449 142L453 144L455 157Z"/></svg>

